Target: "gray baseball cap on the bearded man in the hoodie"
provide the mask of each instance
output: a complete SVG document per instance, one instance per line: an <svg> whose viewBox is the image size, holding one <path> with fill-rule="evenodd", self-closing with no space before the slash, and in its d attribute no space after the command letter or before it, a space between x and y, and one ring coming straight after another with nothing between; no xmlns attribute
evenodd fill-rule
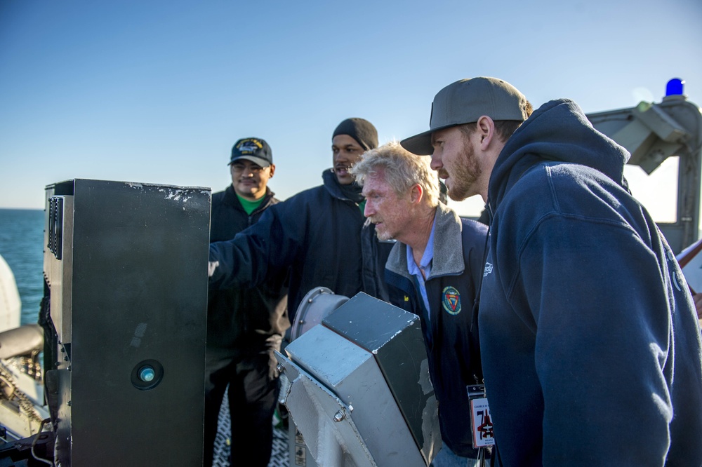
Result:
<svg viewBox="0 0 702 467"><path fill-rule="evenodd" d="M494 121L527 119L527 97L507 81L479 76L461 79L440 90L432 102L429 130L400 142L413 154L434 152L432 133L451 126L473 123L483 116Z"/></svg>

